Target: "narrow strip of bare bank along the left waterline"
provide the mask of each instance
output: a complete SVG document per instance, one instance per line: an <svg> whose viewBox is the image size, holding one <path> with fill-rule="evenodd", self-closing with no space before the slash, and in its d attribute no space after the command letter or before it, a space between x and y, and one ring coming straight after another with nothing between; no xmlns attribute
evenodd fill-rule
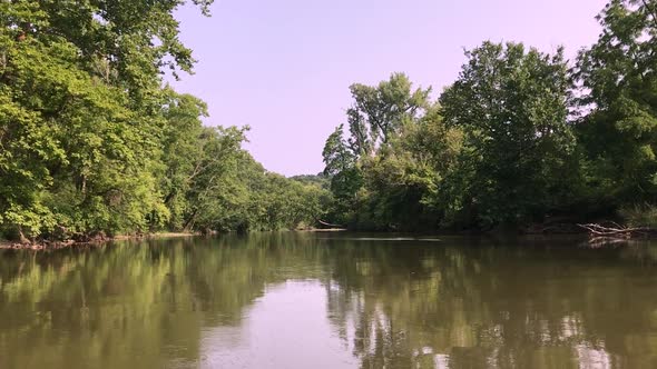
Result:
<svg viewBox="0 0 657 369"><path fill-rule="evenodd" d="M198 232L155 232L145 235L119 235L115 237L105 237L92 239L89 241L39 241L20 243L16 241L8 241L0 239L0 250L59 250L70 247L94 247L105 245L111 241L126 241L126 240L147 240L147 239L165 239L165 238L184 238L184 237L196 237L200 236Z"/></svg>

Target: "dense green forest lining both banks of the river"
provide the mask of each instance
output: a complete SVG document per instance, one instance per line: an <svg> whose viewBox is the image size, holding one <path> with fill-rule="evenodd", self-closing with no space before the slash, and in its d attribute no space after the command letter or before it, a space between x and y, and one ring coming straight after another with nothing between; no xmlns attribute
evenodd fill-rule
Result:
<svg viewBox="0 0 657 369"><path fill-rule="evenodd" d="M657 225L657 0L611 0L572 61L487 41L438 98L353 84L324 172L296 178L165 82L193 72L185 2L0 2L0 238Z"/></svg>

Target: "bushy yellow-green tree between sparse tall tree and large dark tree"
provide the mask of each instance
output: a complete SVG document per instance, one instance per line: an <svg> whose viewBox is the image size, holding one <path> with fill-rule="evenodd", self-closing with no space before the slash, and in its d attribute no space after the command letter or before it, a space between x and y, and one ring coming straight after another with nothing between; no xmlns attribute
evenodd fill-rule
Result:
<svg viewBox="0 0 657 369"><path fill-rule="evenodd" d="M374 229L437 229L448 207L444 179L461 141L461 132L444 124L438 106L418 121L406 121L389 144L364 160L366 199L360 222Z"/></svg>

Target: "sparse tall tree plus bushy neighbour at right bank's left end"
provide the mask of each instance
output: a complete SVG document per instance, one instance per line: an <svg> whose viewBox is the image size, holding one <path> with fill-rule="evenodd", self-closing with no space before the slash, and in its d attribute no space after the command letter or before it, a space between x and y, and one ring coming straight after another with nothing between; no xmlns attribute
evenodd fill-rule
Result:
<svg viewBox="0 0 657 369"><path fill-rule="evenodd" d="M460 144L458 130L443 124L430 89L413 90L405 74L351 91L350 136L339 126L323 151L332 220L365 229L437 227L435 197Z"/></svg>

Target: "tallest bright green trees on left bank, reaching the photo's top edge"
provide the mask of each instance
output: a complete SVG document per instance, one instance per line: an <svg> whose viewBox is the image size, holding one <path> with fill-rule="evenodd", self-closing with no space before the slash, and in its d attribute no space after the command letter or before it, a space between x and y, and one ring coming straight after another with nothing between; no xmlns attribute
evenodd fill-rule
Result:
<svg viewBox="0 0 657 369"><path fill-rule="evenodd" d="M0 228L24 239L168 218L160 68L194 62L173 17L183 3L0 3Z"/></svg>

